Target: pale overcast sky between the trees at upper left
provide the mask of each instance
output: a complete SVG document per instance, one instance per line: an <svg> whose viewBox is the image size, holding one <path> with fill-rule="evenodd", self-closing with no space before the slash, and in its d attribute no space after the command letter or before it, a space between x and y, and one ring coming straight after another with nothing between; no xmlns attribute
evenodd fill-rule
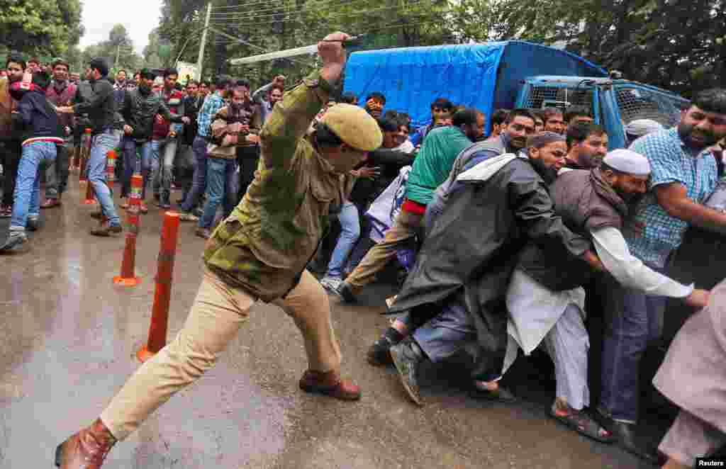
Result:
<svg viewBox="0 0 726 469"><path fill-rule="evenodd" d="M149 33L159 25L162 0L83 1L81 48L108 39L113 25L121 23L129 31L134 48L141 54L149 42Z"/></svg>

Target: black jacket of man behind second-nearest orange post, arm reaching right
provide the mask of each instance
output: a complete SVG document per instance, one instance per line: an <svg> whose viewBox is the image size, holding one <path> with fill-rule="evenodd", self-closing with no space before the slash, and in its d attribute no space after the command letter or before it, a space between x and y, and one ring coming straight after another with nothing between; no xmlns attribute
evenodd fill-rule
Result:
<svg viewBox="0 0 726 469"><path fill-rule="evenodd" d="M138 88L126 91L123 107L119 110L126 125L134 132L131 138L148 140L154 132L154 118L162 115L167 121L181 123L184 116L171 113L158 93L143 94Z"/></svg>

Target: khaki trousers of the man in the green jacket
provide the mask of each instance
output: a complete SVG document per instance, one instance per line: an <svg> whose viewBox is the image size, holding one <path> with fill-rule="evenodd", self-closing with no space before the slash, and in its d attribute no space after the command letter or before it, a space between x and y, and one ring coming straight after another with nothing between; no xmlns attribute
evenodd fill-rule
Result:
<svg viewBox="0 0 726 469"><path fill-rule="evenodd" d="M373 282L376 274L396 256L396 250L415 237L422 220L423 215L401 209L393 221L393 227L386 232L386 237L368 251L360 264L348 275L346 283L351 285L353 290L359 290Z"/></svg>

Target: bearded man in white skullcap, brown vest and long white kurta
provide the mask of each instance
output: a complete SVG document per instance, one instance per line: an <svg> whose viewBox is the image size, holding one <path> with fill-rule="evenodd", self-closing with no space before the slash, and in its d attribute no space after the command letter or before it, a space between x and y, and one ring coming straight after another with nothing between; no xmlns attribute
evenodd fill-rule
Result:
<svg viewBox="0 0 726 469"><path fill-rule="evenodd" d="M643 155L630 150L609 152L600 168L560 174L550 189L555 213L572 232L592 241L603 270L621 285L648 295L682 298L702 308L707 291L681 285L645 266L629 253L621 234L628 203L645 193L649 175L650 164ZM534 242L523 250L507 291L510 343L505 370L516 358L517 348L529 355L542 345L555 362L552 417L592 439L611 442L611 432L583 412L590 405L590 340L584 326L582 285L592 274L590 265L566 250L545 250Z"/></svg>

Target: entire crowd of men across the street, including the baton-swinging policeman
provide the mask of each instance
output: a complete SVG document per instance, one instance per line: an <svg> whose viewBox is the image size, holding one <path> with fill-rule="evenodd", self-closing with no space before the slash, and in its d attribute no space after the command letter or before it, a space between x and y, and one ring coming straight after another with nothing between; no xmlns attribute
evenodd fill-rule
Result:
<svg viewBox="0 0 726 469"><path fill-rule="evenodd" d="M287 93L282 76L250 93L248 81L227 76L184 87L174 69L110 78L94 59L80 81L64 60L43 70L8 57L0 216L11 221L1 252L23 252L41 208L62 204L85 129L99 202L92 235L123 231L118 209L129 208L140 174L142 213L147 189L164 209L182 189L181 220L208 239L184 329L98 420L58 446L56 464L100 468L118 440L213 366L258 300L280 305L305 338L303 391L359 399L360 388L341 378L328 295L356 301L393 259L405 279L387 301L395 319L367 359L395 366L415 404L424 403L420 364L465 349L474 351L471 395L516 401L501 379L519 351L542 348L555 365L552 418L656 463L638 439L640 364L675 298L699 312L655 380L680 407L659 447L664 467L692 467L724 446L726 287L677 282L669 264L689 227L726 234L724 207L715 205L726 198L718 185L726 91L697 94L673 129L627 123L629 149L609 152L607 132L579 106L485 115L441 97L431 123L413 129L405 110L386 110L383 94L362 106L354 94L334 102L345 37L322 41L322 70ZM106 180L112 150L122 155L118 209ZM316 253L335 219L328 261ZM318 282L309 269L321 261ZM587 327L592 314L603 317L602 330ZM593 334L603 344L598 402L588 375Z"/></svg>

